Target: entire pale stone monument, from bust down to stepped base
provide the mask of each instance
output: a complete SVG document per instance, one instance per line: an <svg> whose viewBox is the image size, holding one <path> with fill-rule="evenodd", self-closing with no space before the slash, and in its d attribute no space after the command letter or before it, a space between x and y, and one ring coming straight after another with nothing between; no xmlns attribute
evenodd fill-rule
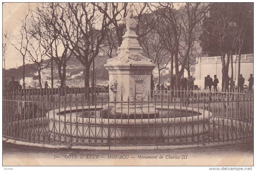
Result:
<svg viewBox="0 0 256 171"><path fill-rule="evenodd" d="M122 45L117 48L117 56L108 59L104 65L109 74L110 103L104 107L103 113L118 118L121 115L122 118L127 118L128 113L131 119L141 118L141 115L143 118L154 118L155 114L158 115L158 110L153 104L148 103L148 98L150 76L156 65L141 54L142 47L135 32L138 19L133 18L132 13L133 9L128 9L127 16L121 19L127 31L123 36Z"/></svg>

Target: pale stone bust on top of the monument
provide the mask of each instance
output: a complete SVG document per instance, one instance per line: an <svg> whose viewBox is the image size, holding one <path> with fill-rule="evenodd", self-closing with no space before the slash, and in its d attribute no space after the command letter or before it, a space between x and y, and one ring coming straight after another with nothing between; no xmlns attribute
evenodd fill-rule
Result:
<svg viewBox="0 0 256 171"><path fill-rule="evenodd" d="M121 18L121 23L126 25L126 32L124 34L124 36L129 36L129 35L136 35L134 29L136 28L136 26L138 25L138 19L133 18L133 9L129 8L127 11L127 15L125 18Z"/></svg>

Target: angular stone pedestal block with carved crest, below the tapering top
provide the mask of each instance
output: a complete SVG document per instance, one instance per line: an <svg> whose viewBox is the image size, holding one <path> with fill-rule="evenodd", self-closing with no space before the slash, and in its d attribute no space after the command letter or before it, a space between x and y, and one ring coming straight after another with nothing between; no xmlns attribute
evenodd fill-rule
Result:
<svg viewBox="0 0 256 171"><path fill-rule="evenodd" d="M131 61L133 62L133 61ZM153 63L105 64L109 73L109 104L102 110L104 117L155 118L158 110L150 103ZM115 85L116 84L116 85ZM112 91L114 90L114 91ZM128 103L129 101L129 103Z"/></svg>

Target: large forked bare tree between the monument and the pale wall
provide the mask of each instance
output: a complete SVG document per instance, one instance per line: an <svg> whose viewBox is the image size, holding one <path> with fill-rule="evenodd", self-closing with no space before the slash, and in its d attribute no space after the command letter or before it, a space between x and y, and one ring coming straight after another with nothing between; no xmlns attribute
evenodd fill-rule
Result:
<svg viewBox="0 0 256 171"><path fill-rule="evenodd" d="M180 78L183 75L184 69L189 68L192 53L192 47L196 36L196 25L202 21L205 14L208 12L209 5L204 3L186 3L177 10L173 3L160 3L160 7L156 7L156 13L160 15L162 29L159 32L165 32L167 36L163 41L166 49L170 51L171 58L175 64L176 85L180 86ZM160 27L161 28L161 27ZM170 29L166 31L164 28ZM180 38L184 38L182 44ZM183 51L179 51L182 48ZM179 64L181 65L179 69ZM171 60L172 65L172 60ZM171 71L172 73L172 71Z"/></svg>

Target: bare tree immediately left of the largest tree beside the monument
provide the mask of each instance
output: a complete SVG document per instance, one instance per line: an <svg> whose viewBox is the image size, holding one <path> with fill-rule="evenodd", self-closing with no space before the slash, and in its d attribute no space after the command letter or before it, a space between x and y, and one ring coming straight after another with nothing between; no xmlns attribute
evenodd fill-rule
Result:
<svg viewBox="0 0 256 171"><path fill-rule="evenodd" d="M31 30L42 39L40 43L45 49L46 56L57 64L61 88L65 86L67 62L74 51L66 39L70 35L74 37L74 32L71 27L68 27L68 30L63 29L65 21L68 20L67 7L67 3L41 4L35 11L32 25L34 29ZM51 70L53 70L52 65Z"/></svg>

